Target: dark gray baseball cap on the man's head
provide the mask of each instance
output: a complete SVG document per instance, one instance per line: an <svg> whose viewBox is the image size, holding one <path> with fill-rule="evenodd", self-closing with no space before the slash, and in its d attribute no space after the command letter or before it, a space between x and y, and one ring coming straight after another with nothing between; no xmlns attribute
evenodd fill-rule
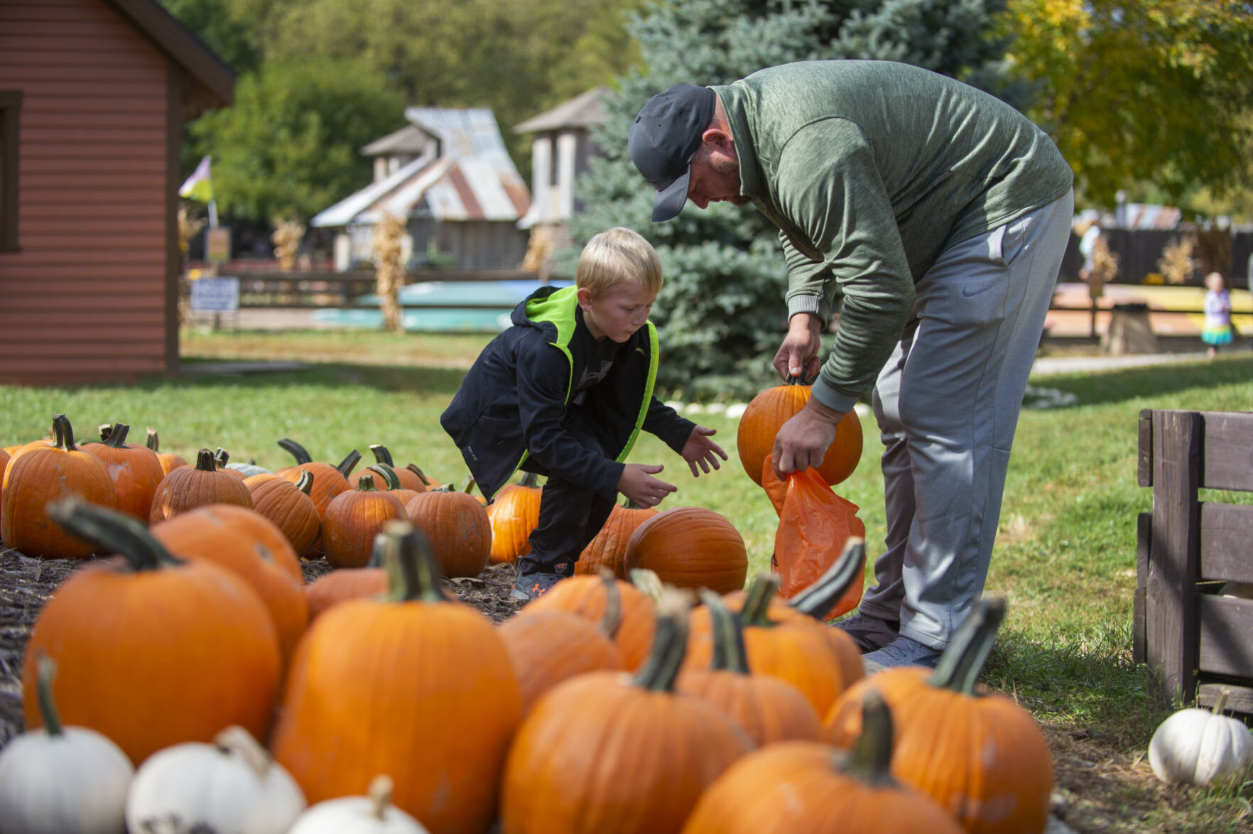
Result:
<svg viewBox="0 0 1253 834"><path fill-rule="evenodd" d="M683 210L692 158L713 119L717 99L708 86L675 84L649 99L635 116L626 148L635 168L657 189L654 223Z"/></svg>

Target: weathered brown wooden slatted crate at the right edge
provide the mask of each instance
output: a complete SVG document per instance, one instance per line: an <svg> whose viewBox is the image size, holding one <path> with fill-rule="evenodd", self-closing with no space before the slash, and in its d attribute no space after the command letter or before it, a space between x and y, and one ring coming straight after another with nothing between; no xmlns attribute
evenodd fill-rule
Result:
<svg viewBox="0 0 1253 834"><path fill-rule="evenodd" d="M1253 506L1199 490L1253 492L1253 412L1140 412L1138 482L1153 487L1136 541L1134 656L1164 704L1253 713L1253 600L1219 594L1253 582Z"/></svg>

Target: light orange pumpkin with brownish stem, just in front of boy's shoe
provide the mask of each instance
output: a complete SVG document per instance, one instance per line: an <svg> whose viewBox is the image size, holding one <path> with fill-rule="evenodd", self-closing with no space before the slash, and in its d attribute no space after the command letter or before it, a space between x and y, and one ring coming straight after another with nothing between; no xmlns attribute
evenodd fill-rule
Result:
<svg viewBox="0 0 1253 834"><path fill-rule="evenodd" d="M657 627L657 605L638 587L614 580L621 617L614 645L623 669L634 671L648 657ZM566 611L591 622L601 622L611 606L609 586L600 576L571 576L554 585L544 596L523 606L515 616L529 617L543 611Z"/></svg>

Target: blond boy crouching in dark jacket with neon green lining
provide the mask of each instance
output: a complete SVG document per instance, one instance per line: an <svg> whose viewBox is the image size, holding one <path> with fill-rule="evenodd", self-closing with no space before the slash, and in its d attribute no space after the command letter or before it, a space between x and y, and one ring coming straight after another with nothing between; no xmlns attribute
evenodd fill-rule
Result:
<svg viewBox="0 0 1253 834"><path fill-rule="evenodd" d="M693 476L727 460L714 430L653 396L658 347L648 313L660 288L648 240L624 228L601 232L579 257L575 286L541 287L521 302L440 416L489 498L517 470L548 476L531 552L517 559L516 599L534 600L574 575L619 492L653 507L675 491L653 477L662 466L623 463L640 430L678 452Z"/></svg>

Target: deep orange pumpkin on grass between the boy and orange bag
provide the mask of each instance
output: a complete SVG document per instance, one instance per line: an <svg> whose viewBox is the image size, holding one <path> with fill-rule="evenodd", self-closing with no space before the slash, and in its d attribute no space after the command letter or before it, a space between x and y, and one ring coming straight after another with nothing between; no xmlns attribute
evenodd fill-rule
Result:
<svg viewBox="0 0 1253 834"><path fill-rule="evenodd" d="M744 538L725 517L704 507L675 507L645 518L626 542L626 564L675 587L718 594L743 589L748 576Z"/></svg>

